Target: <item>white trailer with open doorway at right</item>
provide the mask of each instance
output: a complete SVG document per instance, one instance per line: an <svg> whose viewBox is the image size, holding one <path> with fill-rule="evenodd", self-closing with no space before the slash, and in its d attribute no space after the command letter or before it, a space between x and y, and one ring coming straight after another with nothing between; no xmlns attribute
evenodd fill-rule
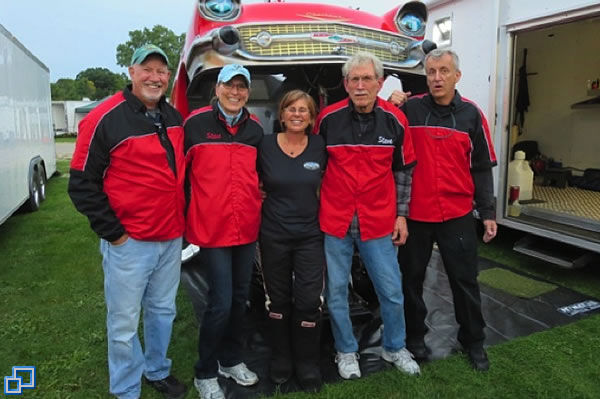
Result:
<svg viewBox="0 0 600 399"><path fill-rule="evenodd" d="M494 132L497 220L529 233L515 250L563 267L597 259L600 89L590 86L600 78L599 2L427 3L426 37L458 53L463 73L458 89L477 102ZM526 73L520 77L525 53ZM530 105L521 125L517 98L525 92L524 79ZM533 200L521 204L519 216L510 216L507 173L515 146L534 158L537 173ZM582 185L586 179L591 184Z"/></svg>

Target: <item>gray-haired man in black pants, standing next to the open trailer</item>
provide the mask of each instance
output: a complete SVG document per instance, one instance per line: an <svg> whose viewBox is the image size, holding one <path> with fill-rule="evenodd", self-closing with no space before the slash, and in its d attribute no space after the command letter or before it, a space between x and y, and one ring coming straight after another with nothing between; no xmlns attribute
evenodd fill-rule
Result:
<svg viewBox="0 0 600 399"><path fill-rule="evenodd" d="M417 360L429 357L425 345L427 308L423 301L425 271L436 242L448 274L459 324L458 342L474 369L485 371L485 321L477 283L477 238L473 202L483 220L483 241L496 235L492 167L496 155L481 110L456 90L458 56L434 50L425 57L429 93L411 97L394 92L396 105L411 126L419 164L415 167L408 215L410 237L398 260L404 275L407 347Z"/></svg>

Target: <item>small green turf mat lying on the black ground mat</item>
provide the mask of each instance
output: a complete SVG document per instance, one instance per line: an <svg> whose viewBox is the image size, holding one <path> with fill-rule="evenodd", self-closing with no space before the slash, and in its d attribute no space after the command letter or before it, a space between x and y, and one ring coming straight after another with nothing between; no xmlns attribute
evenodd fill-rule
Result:
<svg viewBox="0 0 600 399"><path fill-rule="evenodd" d="M556 288L556 285L521 276L510 270L493 267L479 273L480 283L520 298L533 298Z"/></svg>

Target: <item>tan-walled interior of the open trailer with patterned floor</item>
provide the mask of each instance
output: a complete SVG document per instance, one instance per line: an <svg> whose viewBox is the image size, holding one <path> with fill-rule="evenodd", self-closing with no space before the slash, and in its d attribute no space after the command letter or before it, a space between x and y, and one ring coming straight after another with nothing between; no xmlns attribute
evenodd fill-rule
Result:
<svg viewBox="0 0 600 399"><path fill-rule="evenodd" d="M507 153L511 160L516 150L526 153L534 172L533 198L511 212L506 187L503 203L508 219L596 245L600 243L598 37L598 15L515 35ZM531 245L529 237L515 249L528 253ZM548 252L551 246L546 244ZM597 259L580 253L584 258L576 263L581 265L589 263L590 256ZM571 259L562 266L577 264Z"/></svg>

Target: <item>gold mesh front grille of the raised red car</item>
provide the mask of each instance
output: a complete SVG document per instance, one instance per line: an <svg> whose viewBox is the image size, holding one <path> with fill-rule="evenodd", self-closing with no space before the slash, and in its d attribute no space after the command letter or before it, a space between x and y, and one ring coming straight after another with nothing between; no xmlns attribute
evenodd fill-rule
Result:
<svg viewBox="0 0 600 399"><path fill-rule="evenodd" d="M340 23L243 25L238 29L242 50L260 58L352 56L358 51L369 51L384 62L402 62L412 42L400 35ZM256 38L261 32L273 38L268 46L257 44Z"/></svg>

